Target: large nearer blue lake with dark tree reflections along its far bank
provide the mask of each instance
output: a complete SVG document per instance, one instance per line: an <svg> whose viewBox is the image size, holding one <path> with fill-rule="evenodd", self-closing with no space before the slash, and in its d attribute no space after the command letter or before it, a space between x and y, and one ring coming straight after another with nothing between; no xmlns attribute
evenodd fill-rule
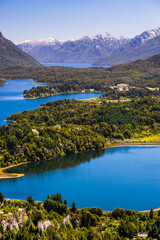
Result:
<svg viewBox="0 0 160 240"><path fill-rule="evenodd" d="M1 180L5 197L44 200L60 192L68 204L146 210L160 207L160 147L117 147L22 165Z"/></svg>

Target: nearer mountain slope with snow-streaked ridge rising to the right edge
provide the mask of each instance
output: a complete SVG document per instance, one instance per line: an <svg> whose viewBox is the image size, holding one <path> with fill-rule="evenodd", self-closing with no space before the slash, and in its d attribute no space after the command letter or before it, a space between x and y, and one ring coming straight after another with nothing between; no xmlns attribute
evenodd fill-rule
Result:
<svg viewBox="0 0 160 240"><path fill-rule="evenodd" d="M110 56L97 59L94 65L112 66L137 59L144 60L156 54L160 54L160 26L136 36Z"/></svg>

